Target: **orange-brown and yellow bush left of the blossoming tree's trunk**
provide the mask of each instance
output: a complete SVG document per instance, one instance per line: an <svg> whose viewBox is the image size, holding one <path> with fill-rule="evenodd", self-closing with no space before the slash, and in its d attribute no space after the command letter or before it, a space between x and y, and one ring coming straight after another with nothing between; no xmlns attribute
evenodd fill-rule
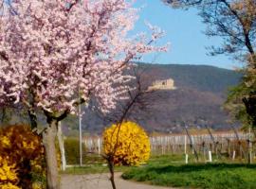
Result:
<svg viewBox="0 0 256 189"><path fill-rule="evenodd" d="M41 137L28 126L0 129L0 188L32 189L32 175L46 174Z"/></svg>

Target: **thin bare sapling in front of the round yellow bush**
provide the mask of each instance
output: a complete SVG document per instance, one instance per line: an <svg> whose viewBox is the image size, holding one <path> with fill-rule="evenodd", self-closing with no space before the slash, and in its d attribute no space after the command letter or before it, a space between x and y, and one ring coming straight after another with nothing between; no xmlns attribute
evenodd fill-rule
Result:
<svg viewBox="0 0 256 189"><path fill-rule="evenodd" d="M114 157L116 155L116 152L118 150L119 145L119 130L121 128L122 123L125 120L134 120L139 121L142 118L137 117L137 114L140 112L150 112L152 102L154 101L157 94L155 94L155 91L149 91L147 85L145 82L145 69L139 68L137 65L133 65L131 70L129 72L132 72L132 76L135 77L133 81L130 83L132 86L132 90L127 91L127 97L124 100L120 100L118 102L117 108L108 113L107 115L101 114L100 111L94 109L95 112L99 116L101 116L102 119L106 120L107 122L115 123L117 124L118 132L117 132L117 141L115 141L115 145L110 153L108 154L101 154L101 156L106 160L108 169L110 172L110 181L112 184L113 189L116 189L116 183L115 183L115 163L114 163ZM97 105L94 105L94 107L97 107Z"/></svg>

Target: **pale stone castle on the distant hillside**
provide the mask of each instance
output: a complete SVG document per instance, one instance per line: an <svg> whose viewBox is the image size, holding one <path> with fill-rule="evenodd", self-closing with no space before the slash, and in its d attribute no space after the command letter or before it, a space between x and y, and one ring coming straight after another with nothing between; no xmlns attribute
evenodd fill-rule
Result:
<svg viewBox="0 0 256 189"><path fill-rule="evenodd" d="M174 86L174 79L168 78L164 80L155 80L152 83L152 86L149 86L148 91L153 90L175 90L176 87Z"/></svg>

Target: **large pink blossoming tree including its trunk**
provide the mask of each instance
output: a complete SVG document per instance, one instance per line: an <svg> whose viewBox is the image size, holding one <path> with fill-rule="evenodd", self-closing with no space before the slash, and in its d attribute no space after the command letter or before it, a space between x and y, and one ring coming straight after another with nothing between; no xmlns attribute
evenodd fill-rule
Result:
<svg viewBox="0 0 256 189"><path fill-rule="evenodd" d="M127 37L136 20L126 0L13 0L1 13L0 104L45 113L47 188L59 188L58 122L91 95L102 112L114 109L129 62L165 50L153 45L162 34L153 26L150 37Z"/></svg>

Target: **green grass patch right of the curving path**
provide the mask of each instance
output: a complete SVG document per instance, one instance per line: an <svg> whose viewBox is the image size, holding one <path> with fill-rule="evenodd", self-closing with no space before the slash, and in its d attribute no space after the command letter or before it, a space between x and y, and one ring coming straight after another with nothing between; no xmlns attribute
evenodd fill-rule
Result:
<svg viewBox="0 0 256 189"><path fill-rule="evenodd" d="M145 166L127 170L123 179L183 188L255 189L256 164L190 163L179 156L155 157Z"/></svg>

